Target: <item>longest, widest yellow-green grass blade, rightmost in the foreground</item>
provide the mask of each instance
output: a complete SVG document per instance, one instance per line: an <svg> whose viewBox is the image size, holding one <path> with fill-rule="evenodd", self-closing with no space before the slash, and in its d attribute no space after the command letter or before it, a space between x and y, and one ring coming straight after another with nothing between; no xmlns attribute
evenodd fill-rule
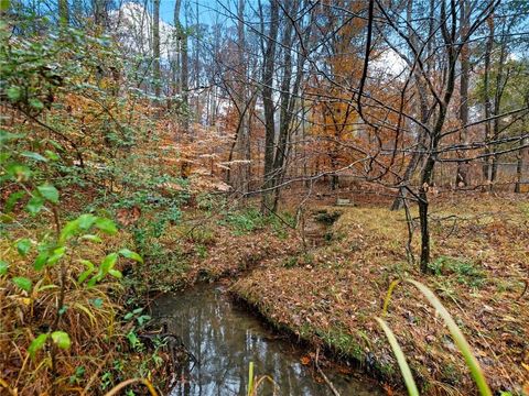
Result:
<svg viewBox="0 0 529 396"><path fill-rule="evenodd" d="M423 295L427 297L427 299L430 301L430 304L438 310L439 315L443 318L444 322L446 323L446 327L450 330L450 333L452 334L452 338L454 339L455 344L457 345L460 352L463 354L465 358L466 365L471 370L472 377L476 382L477 388L479 389L479 394L483 396L493 396L493 393L490 392L490 388L487 385L487 381L485 378L485 375L483 374L482 367L479 366L479 363L477 362L476 358L472 353L471 345L465 339L465 336L463 336L463 332L460 330L457 324L455 323L454 319L452 316L449 314L446 308L441 304L441 301L435 297L432 290L430 290L427 286L421 284L420 282L409 279L411 284L413 284Z"/></svg>

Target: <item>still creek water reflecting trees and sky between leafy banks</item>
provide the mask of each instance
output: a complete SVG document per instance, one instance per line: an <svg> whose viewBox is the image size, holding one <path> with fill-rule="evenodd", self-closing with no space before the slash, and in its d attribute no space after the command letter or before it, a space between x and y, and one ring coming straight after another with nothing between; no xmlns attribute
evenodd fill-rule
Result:
<svg viewBox="0 0 529 396"><path fill-rule="evenodd" d="M246 396L250 362L257 376L268 375L276 383L274 389L264 381L259 395L333 395L320 375L301 363L303 351L298 345L234 304L219 287L198 286L163 295L154 300L152 315L163 320L196 359L177 376L171 396ZM384 395L376 383L359 374L342 374L337 367L324 367L324 372L343 396Z"/></svg>

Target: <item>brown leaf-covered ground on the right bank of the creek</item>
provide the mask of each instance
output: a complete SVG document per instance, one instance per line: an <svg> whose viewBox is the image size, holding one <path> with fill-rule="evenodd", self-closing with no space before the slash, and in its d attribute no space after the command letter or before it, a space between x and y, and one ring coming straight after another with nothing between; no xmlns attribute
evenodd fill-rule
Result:
<svg viewBox="0 0 529 396"><path fill-rule="evenodd" d="M233 293L270 322L360 363L391 393L400 372L375 318L389 284L413 278L453 315L494 389L529 392L527 200L479 194L434 198L430 275L407 260L403 211L389 211L387 202L328 204L310 204L304 243L299 233L256 223L248 215L193 231L175 228L168 234L191 238L187 249L194 252L187 253L194 258L180 274L172 272L177 278L171 282L236 280ZM411 215L417 217L415 210ZM417 256L418 231L411 245ZM412 285L396 288L386 320L423 393L475 392L443 321Z"/></svg>

